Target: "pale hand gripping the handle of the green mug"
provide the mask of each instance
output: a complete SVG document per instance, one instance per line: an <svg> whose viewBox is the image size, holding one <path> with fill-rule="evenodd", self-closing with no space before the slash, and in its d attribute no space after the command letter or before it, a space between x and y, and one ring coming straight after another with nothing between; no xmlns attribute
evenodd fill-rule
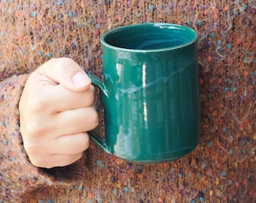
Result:
<svg viewBox="0 0 256 203"><path fill-rule="evenodd" d="M33 165L70 165L87 150L99 123L95 88L72 59L50 59L26 82L20 98L20 133Z"/></svg>

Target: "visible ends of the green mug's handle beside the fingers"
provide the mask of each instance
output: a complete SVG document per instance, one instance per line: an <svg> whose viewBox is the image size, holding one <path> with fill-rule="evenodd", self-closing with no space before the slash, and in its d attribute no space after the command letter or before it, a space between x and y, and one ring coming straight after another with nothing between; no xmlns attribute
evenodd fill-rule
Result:
<svg viewBox="0 0 256 203"><path fill-rule="evenodd" d="M106 89L105 84L102 83L102 80L100 80L96 75L90 73L88 73L88 76L90 77L90 80L92 80L92 84L99 89L99 92L108 97L108 90ZM105 144L105 138L102 138L102 136L95 132L95 130L89 131L88 134L94 143L99 146L99 148L108 152L108 147Z"/></svg>

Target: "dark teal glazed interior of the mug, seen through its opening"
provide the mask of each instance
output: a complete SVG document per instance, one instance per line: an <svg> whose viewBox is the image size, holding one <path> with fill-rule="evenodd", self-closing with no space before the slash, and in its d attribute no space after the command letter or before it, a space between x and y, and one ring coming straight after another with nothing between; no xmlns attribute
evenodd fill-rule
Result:
<svg viewBox="0 0 256 203"><path fill-rule="evenodd" d="M128 50L162 50L184 47L197 41L197 32L169 23L123 26L102 35L102 44Z"/></svg>

